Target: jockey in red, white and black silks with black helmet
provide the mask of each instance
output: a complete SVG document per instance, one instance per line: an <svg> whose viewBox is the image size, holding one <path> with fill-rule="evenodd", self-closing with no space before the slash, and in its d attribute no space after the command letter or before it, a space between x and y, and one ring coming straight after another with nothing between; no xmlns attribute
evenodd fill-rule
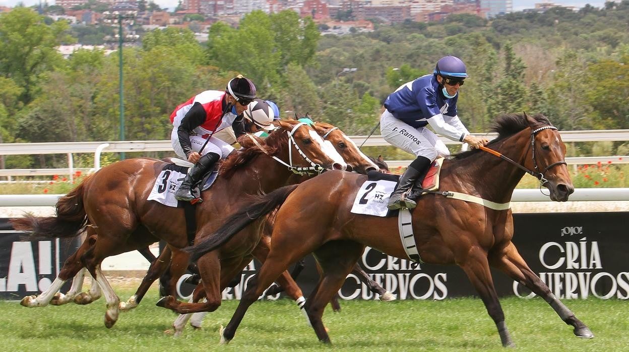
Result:
<svg viewBox="0 0 629 352"><path fill-rule="evenodd" d="M225 91L204 91L190 98L170 114L172 147L180 157L194 166L175 192L178 200L191 201L192 187L206 171L234 149L213 136L214 132L232 127L236 137L244 134L243 119L238 118L255 99L255 86L241 75L231 79Z"/></svg>

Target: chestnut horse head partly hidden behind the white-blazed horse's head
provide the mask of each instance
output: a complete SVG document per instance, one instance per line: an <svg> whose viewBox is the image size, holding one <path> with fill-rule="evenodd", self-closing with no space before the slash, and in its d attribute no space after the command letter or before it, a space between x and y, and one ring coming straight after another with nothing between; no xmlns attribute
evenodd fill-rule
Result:
<svg viewBox="0 0 629 352"><path fill-rule="evenodd" d="M338 154L347 162L347 171L367 174L369 170L377 170L378 166L365 156L357 145L338 127L329 123L316 122L313 124L316 132L326 142L330 142Z"/></svg>

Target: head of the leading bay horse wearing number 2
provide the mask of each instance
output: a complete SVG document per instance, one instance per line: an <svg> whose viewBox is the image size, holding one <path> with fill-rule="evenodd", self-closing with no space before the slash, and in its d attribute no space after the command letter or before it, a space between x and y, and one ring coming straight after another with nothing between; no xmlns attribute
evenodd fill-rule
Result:
<svg viewBox="0 0 629 352"><path fill-rule="evenodd" d="M574 192L574 185L565 163L565 144L556 127L540 123L524 114L531 128L532 157L527 167L537 173L542 185L550 190L550 199L565 202Z"/></svg>

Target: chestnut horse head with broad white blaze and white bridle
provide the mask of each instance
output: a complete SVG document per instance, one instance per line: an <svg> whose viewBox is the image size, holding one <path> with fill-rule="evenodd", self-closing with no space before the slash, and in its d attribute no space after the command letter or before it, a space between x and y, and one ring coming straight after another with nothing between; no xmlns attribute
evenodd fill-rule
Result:
<svg viewBox="0 0 629 352"><path fill-rule="evenodd" d="M347 163L332 145L326 143L308 123L294 120L279 120L279 128L272 133L287 135L286 152L289 164L294 171L306 169L321 172L323 169L345 170ZM272 137L269 136L269 138ZM272 140L272 139L271 139ZM267 139L267 145L270 140Z"/></svg>

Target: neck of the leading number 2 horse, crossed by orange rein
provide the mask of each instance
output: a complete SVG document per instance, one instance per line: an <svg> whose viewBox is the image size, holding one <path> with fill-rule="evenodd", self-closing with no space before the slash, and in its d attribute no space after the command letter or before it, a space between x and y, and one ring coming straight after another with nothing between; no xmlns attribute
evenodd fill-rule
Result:
<svg viewBox="0 0 629 352"><path fill-rule="evenodd" d="M526 128L491 145L491 149L524 165L527 157L530 158L529 138L530 130ZM510 162L483 151L476 152L456 164L451 174L457 175L465 189L497 203L511 200L513 190L525 174L522 169Z"/></svg>

